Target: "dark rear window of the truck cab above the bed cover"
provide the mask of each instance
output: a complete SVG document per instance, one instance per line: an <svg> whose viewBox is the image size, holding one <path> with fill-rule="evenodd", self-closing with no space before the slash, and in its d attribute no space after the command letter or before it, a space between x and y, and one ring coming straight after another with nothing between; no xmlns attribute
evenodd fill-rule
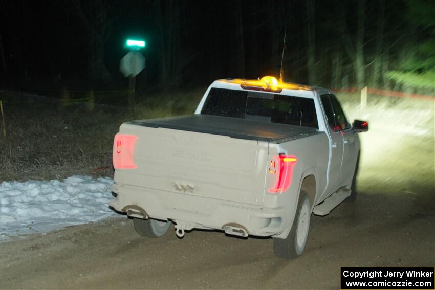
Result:
<svg viewBox="0 0 435 290"><path fill-rule="evenodd" d="M213 87L201 114L319 128L313 99L278 94Z"/></svg>

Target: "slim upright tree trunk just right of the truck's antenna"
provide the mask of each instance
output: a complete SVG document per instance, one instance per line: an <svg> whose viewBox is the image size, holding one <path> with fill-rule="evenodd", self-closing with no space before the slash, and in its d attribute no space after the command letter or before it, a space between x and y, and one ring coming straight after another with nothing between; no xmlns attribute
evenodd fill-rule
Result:
<svg viewBox="0 0 435 290"><path fill-rule="evenodd" d="M314 0L307 0L307 69L308 69L308 83L311 85L316 84L316 53L315 53L315 3Z"/></svg>

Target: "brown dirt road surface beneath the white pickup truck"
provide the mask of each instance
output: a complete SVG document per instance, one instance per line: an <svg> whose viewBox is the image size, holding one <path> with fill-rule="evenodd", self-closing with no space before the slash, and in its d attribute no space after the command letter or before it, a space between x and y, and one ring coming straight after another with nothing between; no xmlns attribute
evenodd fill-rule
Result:
<svg viewBox="0 0 435 290"><path fill-rule="evenodd" d="M272 239L170 230L136 234L126 217L1 244L1 289L338 289L340 266L434 266L433 192L360 192L312 217L305 253L276 258Z"/></svg>

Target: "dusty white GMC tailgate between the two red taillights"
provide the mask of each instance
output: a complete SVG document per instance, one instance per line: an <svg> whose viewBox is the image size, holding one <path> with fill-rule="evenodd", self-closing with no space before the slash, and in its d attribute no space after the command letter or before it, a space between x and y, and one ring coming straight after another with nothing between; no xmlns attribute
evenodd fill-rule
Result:
<svg viewBox="0 0 435 290"><path fill-rule="evenodd" d="M123 184L263 203L268 142L132 123L124 123L120 133L137 136L137 167L120 170Z"/></svg>

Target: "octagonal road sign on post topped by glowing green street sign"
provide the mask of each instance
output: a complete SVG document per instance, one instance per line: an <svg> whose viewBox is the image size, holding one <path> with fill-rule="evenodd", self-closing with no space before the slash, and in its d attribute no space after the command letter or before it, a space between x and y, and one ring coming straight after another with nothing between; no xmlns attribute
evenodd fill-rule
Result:
<svg viewBox="0 0 435 290"><path fill-rule="evenodd" d="M136 104L136 76L145 68L145 57L140 52L140 49L145 47L145 41L128 39L126 46L130 48L130 52L121 58L119 70L125 77L129 78L128 103L134 109Z"/></svg>

